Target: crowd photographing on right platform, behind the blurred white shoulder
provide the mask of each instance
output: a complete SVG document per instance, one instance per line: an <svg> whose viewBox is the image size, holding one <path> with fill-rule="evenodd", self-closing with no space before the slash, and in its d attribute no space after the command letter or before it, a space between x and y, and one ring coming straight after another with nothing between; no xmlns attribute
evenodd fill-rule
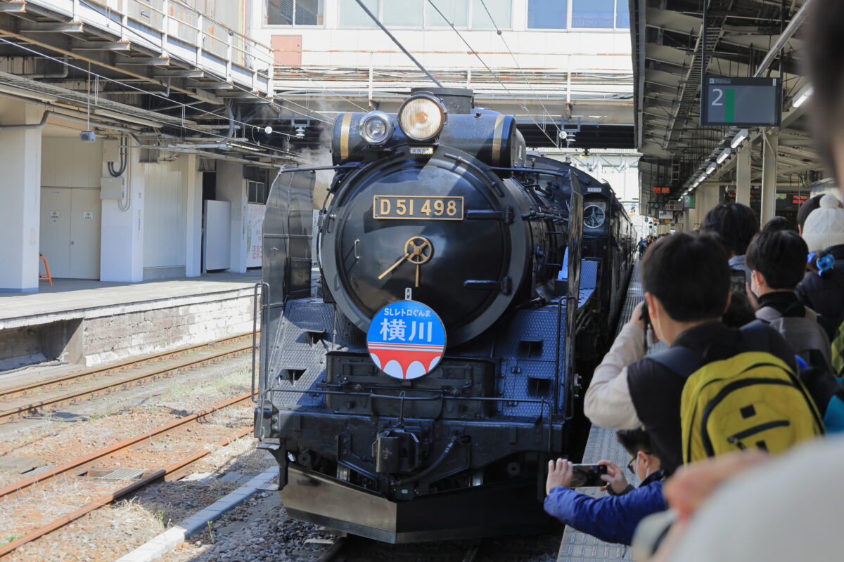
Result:
<svg viewBox="0 0 844 562"><path fill-rule="evenodd" d="M646 517L679 509L685 493L700 493L694 474L701 470L732 475L766 455L844 431L844 206L835 195L815 195L800 215L798 225L777 217L760 228L748 206L722 203L707 213L701 233L648 246L641 262L645 300L595 369L584 399L593 424L619 429L641 487L633 490L619 467L601 461L610 495L578 494L570 489L571 463L559 459L549 463L549 514L630 544ZM668 350L649 354L649 340ZM722 456L727 468L707 462ZM667 526L656 536L674 538L689 527L690 537L705 542L702 532L692 533L696 509L687 511L683 522L660 516ZM730 514L711 516L712 529L719 515ZM687 559L687 550L678 552L684 557L667 559Z"/></svg>

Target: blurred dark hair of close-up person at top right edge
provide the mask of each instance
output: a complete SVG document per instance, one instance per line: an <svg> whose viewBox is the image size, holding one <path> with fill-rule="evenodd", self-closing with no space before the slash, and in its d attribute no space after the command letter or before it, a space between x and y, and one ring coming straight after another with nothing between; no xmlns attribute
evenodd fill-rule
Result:
<svg viewBox="0 0 844 562"><path fill-rule="evenodd" d="M806 62L809 82L814 88L809 111L812 115L814 143L827 169L841 185L842 171L836 169L834 144L844 134L844 2L816 0L806 38Z"/></svg>

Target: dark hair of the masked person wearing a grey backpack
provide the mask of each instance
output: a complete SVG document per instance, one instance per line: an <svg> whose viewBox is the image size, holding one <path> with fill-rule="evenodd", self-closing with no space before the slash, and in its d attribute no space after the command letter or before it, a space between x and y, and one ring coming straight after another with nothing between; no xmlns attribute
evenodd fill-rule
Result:
<svg viewBox="0 0 844 562"><path fill-rule="evenodd" d="M792 290L803 281L809 246L798 233L759 233L750 243L744 263L759 271L771 289Z"/></svg>

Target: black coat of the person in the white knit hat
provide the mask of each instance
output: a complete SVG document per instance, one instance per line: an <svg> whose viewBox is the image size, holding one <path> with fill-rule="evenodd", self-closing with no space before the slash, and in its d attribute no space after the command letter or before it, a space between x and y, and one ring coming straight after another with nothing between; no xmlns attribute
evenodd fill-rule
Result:
<svg viewBox="0 0 844 562"><path fill-rule="evenodd" d="M844 312L844 244L830 246L828 252L836 259L833 270L823 276L809 271L794 292L800 302L820 314L818 324L824 327L831 341Z"/></svg>

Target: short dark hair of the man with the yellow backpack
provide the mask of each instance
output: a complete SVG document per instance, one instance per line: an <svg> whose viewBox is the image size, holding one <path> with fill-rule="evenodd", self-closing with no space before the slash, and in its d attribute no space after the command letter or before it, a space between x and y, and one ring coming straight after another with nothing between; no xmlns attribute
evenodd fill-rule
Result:
<svg viewBox="0 0 844 562"><path fill-rule="evenodd" d="M730 291L728 255L717 238L677 233L658 239L641 262L641 281L678 322L721 318Z"/></svg>

